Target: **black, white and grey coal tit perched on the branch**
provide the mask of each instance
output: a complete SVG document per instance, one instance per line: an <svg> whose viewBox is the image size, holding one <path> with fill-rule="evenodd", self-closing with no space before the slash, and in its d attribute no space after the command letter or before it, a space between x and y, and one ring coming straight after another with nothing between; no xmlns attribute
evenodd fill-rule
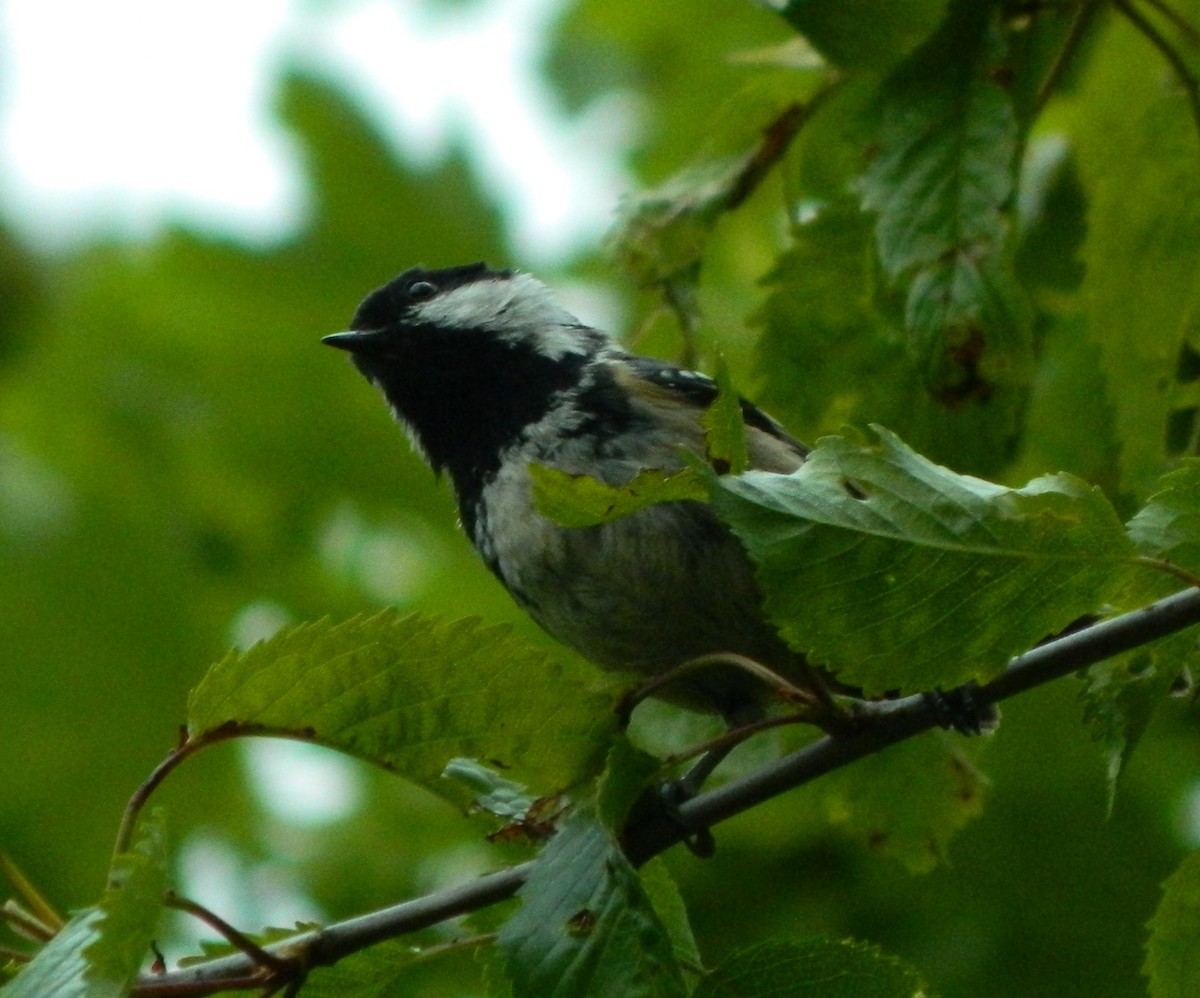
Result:
<svg viewBox="0 0 1200 998"><path fill-rule="evenodd" d="M622 349L529 275L478 263L414 267L372 291L348 350L413 445L454 486L488 569L553 637L594 663L658 677L736 653L799 686L812 674L766 621L739 542L700 501L564 528L535 507L532 464L625 485L704 453L713 380ZM750 465L790 473L808 453L742 403ZM732 726L762 716L762 681L727 666L689 672L660 696Z"/></svg>

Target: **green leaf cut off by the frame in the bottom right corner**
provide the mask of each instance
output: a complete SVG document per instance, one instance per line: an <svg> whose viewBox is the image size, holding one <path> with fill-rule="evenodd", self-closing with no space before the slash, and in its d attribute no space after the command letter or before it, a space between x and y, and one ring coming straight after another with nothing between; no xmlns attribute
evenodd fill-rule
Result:
<svg viewBox="0 0 1200 998"><path fill-rule="evenodd" d="M1200 994L1200 854L1193 853L1163 884L1150 920L1144 972L1151 998Z"/></svg>

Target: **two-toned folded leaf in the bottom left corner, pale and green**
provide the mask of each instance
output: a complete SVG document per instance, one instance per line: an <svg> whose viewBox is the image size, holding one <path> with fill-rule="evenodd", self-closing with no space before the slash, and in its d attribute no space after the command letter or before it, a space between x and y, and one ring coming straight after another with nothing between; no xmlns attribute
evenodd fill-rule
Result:
<svg viewBox="0 0 1200 998"><path fill-rule="evenodd" d="M143 818L100 903L78 912L5 988L6 998L120 998L150 955L167 886L163 818Z"/></svg>

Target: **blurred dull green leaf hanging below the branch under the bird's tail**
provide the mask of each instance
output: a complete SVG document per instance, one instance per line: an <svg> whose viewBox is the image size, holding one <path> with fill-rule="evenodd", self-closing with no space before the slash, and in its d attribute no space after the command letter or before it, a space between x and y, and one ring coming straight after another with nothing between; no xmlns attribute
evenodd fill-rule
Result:
<svg viewBox="0 0 1200 998"><path fill-rule="evenodd" d="M970 746L943 732L908 739L830 772L818 790L829 820L868 848L928 873L983 811L985 778Z"/></svg>

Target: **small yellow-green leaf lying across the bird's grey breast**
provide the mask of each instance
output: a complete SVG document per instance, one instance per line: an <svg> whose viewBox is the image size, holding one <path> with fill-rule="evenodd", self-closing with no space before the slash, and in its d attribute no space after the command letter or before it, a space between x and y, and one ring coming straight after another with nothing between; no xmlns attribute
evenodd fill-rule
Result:
<svg viewBox="0 0 1200 998"><path fill-rule="evenodd" d="M658 503L708 499L708 489L691 468L670 473L647 468L623 486L544 464L532 464L529 473L538 512L560 527L598 527Z"/></svg>

